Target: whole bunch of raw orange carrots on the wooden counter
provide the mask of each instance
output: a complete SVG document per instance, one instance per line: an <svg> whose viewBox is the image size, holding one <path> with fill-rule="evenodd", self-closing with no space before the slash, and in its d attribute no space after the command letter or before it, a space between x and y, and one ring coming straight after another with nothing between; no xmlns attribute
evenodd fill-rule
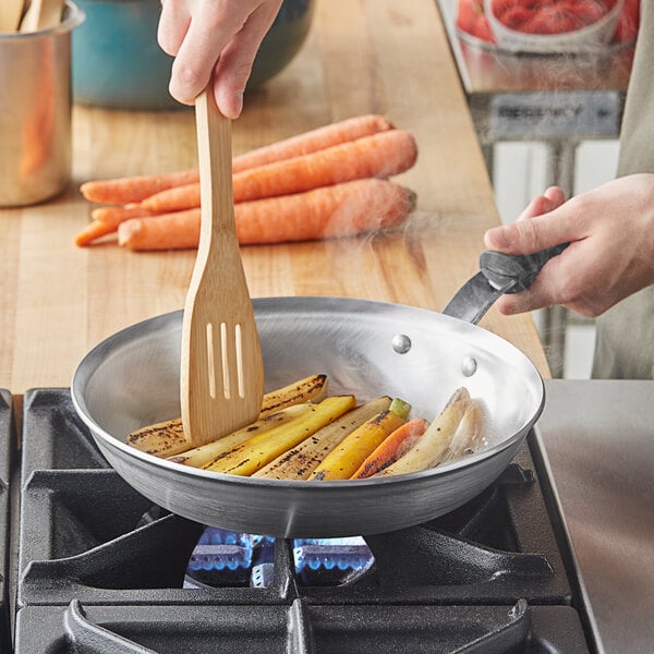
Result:
<svg viewBox="0 0 654 654"><path fill-rule="evenodd" d="M354 235L403 221L415 194L388 178L411 168L413 136L384 117L351 118L251 150L232 160L241 244ZM75 237L81 246L118 233L133 251L197 247L197 169L94 180L84 197L99 206Z"/></svg>

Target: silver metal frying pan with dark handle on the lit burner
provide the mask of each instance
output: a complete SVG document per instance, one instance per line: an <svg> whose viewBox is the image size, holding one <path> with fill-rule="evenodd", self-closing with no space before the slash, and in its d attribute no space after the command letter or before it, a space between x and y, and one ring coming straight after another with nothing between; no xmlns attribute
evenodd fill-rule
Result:
<svg viewBox="0 0 654 654"><path fill-rule="evenodd" d="M537 268L557 252L548 252ZM482 259L446 312L474 319L523 288L533 262L507 274ZM497 266L496 266L497 268ZM526 272L525 272L526 270ZM532 277L533 278L533 277ZM492 280L492 281L489 281ZM531 283L531 280L528 280ZM426 310L342 298L254 300L266 387L314 373L360 401L399 396L433 419L459 386L481 398L491 447L414 474L338 482L240 477L182 467L125 445L138 427L180 414L182 312L116 334L81 362L72 398L109 463L153 502L204 524L272 536L373 534L419 524L463 505L505 470L544 403L541 375L517 348L474 324Z"/></svg>

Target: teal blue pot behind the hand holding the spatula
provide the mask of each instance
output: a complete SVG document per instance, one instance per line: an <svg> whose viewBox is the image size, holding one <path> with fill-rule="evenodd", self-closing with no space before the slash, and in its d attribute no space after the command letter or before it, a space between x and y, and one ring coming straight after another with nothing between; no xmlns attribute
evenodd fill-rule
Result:
<svg viewBox="0 0 654 654"><path fill-rule="evenodd" d="M168 93L172 58L157 44L159 0L76 0L86 21L73 33L73 100L116 109L182 108ZM314 0L284 0L264 38L247 88L283 70L300 50Z"/></svg>

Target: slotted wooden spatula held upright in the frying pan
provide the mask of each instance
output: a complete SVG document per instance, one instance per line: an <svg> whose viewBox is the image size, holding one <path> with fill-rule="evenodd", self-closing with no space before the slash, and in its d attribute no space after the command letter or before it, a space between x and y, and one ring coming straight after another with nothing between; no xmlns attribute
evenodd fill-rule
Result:
<svg viewBox="0 0 654 654"><path fill-rule="evenodd" d="M255 421L264 364L237 238L231 121L211 85L195 101L201 233L182 324L184 435L204 445Z"/></svg>

